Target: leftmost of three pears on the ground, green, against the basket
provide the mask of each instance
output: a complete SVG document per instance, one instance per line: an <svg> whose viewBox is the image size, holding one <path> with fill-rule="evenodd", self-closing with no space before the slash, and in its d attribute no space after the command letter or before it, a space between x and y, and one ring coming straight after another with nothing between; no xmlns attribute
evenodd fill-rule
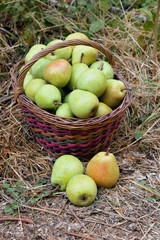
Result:
<svg viewBox="0 0 160 240"><path fill-rule="evenodd" d="M60 185L60 190L65 191L70 178L83 172L83 164L77 157L62 155L53 165L51 183L53 186Z"/></svg>

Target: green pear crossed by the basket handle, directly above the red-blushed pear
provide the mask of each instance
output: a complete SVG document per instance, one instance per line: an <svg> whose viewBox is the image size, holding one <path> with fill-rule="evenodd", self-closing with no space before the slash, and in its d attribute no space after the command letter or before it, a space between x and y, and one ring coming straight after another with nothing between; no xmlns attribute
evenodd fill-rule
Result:
<svg viewBox="0 0 160 240"><path fill-rule="evenodd" d="M60 42L63 42L63 40L60 40L60 39L55 39L51 42L49 42L47 44L47 47L48 46L51 46L51 45L54 45L56 43L60 43ZM51 53L49 53L46 58L51 60L51 61L55 61L57 59L66 59L68 60L72 55L72 47L68 46L68 47L64 47L64 48L59 48Z"/></svg>

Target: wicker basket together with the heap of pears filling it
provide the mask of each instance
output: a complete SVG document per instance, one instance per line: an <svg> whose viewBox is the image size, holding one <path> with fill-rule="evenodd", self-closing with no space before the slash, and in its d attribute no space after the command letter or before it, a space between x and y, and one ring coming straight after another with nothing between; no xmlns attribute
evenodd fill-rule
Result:
<svg viewBox="0 0 160 240"><path fill-rule="evenodd" d="M34 45L11 78L37 141L55 158L106 151L131 101L112 53L83 34Z"/></svg>

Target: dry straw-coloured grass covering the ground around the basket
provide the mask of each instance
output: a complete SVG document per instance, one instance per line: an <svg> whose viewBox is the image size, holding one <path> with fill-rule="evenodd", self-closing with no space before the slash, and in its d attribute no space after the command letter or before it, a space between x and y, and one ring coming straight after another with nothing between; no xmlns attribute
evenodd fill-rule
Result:
<svg viewBox="0 0 160 240"><path fill-rule="evenodd" d="M67 200L65 192L53 191L50 176L54 159L35 141L13 98L8 72L17 61L11 56L15 56L18 44L3 43L2 56L7 60L2 61L0 73L0 239L160 239L159 70L152 76L152 46L141 49L136 40L140 32L126 20L124 26L127 35L123 38L118 26L106 26L103 34L93 38L114 49L133 98L110 147L120 167L120 179L113 189L99 188L95 202L86 207L76 207ZM140 117L145 117L145 121L138 122ZM143 135L136 140L138 130ZM36 186L42 180L44 184ZM19 195L17 209L4 212L15 198L3 184L14 188L17 181L24 184L25 190ZM29 204L46 190L49 196ZM1 222L8 217L19 221Z"/></svg>

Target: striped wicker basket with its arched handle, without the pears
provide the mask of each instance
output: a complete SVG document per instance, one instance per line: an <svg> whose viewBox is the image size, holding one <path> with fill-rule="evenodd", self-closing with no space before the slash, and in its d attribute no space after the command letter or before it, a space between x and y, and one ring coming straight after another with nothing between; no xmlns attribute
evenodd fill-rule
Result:
<svg viewBox="0 0 160 240"><path fill-rule="evenodd" d="M115 73L114 78L125 84L127 89L125 98L121 105L111 113L89 119L63 118L40 109L24 94L23 81L31 66L48 53L72 45L86 45L98 49L112 65ZM89 161L97 152L106 151L109 148L131 102L131 91L129 84L117 71L113 55L106 47L91 40L73 39L63 41L36 54L24 66L18 77L18 71L22 65L24 65L24 60L13 66L10 71L15 99L21 106L37 141L44 149L55 158L63 154L72 154L81 161Z"/></svg>

